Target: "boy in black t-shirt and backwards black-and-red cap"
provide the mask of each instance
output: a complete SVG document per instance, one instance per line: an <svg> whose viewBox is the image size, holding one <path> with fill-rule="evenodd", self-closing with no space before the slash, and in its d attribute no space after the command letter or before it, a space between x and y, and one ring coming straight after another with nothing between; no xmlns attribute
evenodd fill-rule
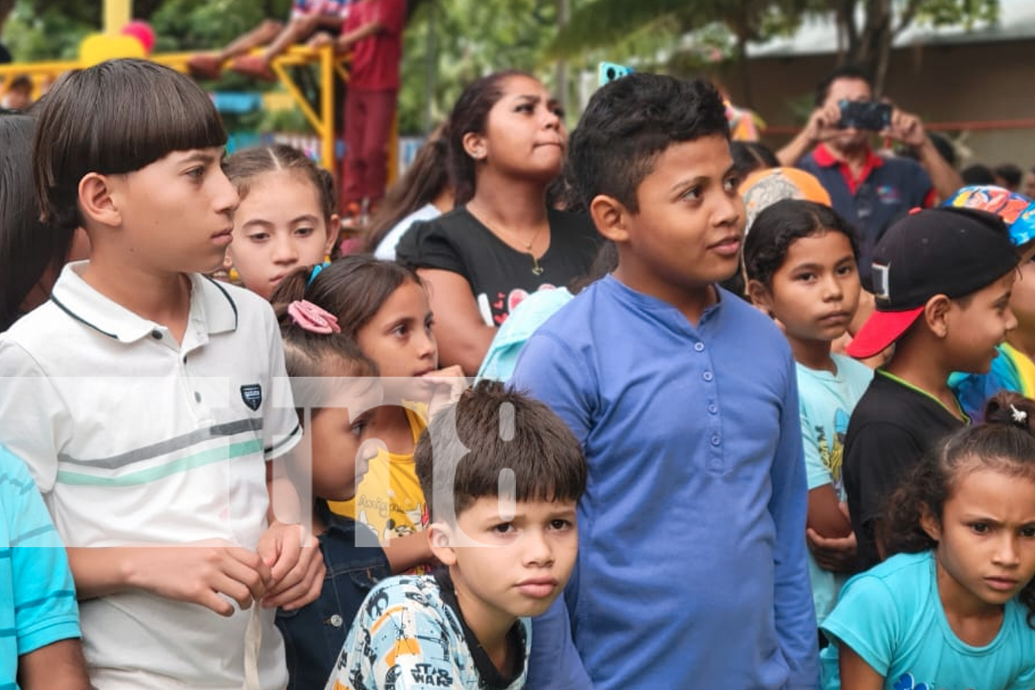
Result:
<svg viewBox="0 0 1035 690"><path fill-rule="evenodd" d="M987 371L996 346L1016 327L1009 307L1016 266L1006 226L974 209L914 211L877 244L877 311L848 354L895 349L852 413L842 469L863 569L881 561L880 519L898 478L970 421L948 377Z"/></svg>

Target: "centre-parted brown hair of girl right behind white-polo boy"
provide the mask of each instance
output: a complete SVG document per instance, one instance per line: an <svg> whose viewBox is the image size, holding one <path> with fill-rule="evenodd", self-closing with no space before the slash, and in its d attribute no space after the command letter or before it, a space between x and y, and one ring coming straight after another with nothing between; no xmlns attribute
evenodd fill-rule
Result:
<svg viewBox="0 0 1035 690"><path fill-rule="evenodd" d="M330 232L330 217L337 213L334 178L298 149L287 144L243 149L229 156L223 163L223 172L237 187L241 201L248 196L257 177L280 170L301 175L316 188L320 210Z"/></svg>

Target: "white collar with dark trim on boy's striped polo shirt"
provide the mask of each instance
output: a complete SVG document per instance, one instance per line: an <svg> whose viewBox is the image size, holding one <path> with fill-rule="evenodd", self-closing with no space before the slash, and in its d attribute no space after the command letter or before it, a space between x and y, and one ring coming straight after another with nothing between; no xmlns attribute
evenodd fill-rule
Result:
<svg viewBox="0 0 1035 690"><path fill-rule="evenodd" d="M87 261L66 264L54 284L51 301L76 321L120 342L135 342L159 326L94 290L82 273ZM188 321L209 335L237 329L237 305L215 280L197 273L190 278Z"/></svg>

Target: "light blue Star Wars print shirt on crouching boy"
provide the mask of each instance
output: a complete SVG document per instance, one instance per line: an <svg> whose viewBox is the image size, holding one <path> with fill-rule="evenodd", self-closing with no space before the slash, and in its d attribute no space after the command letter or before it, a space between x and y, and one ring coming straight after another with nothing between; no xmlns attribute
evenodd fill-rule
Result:
<svg viewBox="0 0 1035 690"><path fill-rule="evenodd" d="M504 677L464 621L448 571L389 577L360 607L325 690L520 690L531 633L529 619L510 629L516 671Z"/></svg>

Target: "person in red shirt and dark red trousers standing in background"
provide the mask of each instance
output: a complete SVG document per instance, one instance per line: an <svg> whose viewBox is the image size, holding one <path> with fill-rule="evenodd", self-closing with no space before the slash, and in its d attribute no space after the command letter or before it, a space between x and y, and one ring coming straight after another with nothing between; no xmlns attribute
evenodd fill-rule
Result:
<svg viewBox="0 0 1035 690"><path fill-rule="evenodd" d="M346 216L358 215L364 202L372 210L384 197L405 24L406 0L360 0L349 6L342 35L334 41L336 52L352 51L342 166Z"/></svg>

